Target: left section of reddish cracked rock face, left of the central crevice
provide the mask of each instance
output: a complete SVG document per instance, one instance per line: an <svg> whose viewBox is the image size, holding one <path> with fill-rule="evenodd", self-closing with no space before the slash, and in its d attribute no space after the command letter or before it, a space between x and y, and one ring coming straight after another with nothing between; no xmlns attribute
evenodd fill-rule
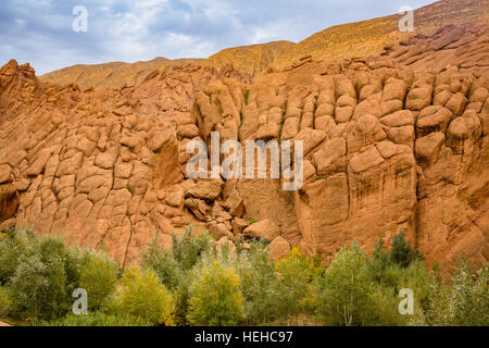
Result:
<svg viewBox="0 0 489 348"><path fill-rule="evenodd" d="M199 135L195 94L227 74L239 76L183 65L138 88L82 91L41 84L11 61L0 71L0 223L14 217L17 227L92 248L103 240L122 265L156 231L170 244L191 223L205 228L186 196L206 214L200 199L221 196L221 186L185 181L185 144Z"/></svg>

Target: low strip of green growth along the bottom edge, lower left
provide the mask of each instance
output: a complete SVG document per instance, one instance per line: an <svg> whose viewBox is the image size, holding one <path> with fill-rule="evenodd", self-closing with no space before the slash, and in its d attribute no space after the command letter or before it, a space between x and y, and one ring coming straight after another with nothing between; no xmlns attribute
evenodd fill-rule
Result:
<svg viewBox="0 0 489 348"><path fill-rule="evenodd" d="M130 315L113 315L93 312L87 315L68 314L50 322L39 322L37 326L150 326L149 322Z"/></svg>

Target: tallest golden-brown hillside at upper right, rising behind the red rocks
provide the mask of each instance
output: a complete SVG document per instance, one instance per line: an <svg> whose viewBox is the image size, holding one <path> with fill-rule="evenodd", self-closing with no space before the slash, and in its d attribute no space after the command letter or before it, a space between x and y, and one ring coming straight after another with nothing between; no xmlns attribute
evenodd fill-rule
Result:
<svg viewBox="0 0 489 348"><path fill-rule="evenodd" d="M327 28L297 44L272 64L285 69L304 55L317 60L341 60L379 54L384 47L409 36L398 24L402 15L349 23ZM489 0L444 0L414 12L415 34L434 34L449 24L489 23Z"/></svg>

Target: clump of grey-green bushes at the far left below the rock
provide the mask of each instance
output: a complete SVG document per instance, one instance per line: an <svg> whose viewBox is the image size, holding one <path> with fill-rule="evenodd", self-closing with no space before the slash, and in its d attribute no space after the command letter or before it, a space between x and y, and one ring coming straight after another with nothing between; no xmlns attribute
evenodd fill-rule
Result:
<svg viewBox="0 0 489 348"><path fill-rule="evenodd" d="M59 238L28 231L1 234L0 258L2 302L8 296L9 316L21 323L62 319L76 288L88 291L90 309L100 308L117 282L118 269L105 256L67 249Z"/></svg>

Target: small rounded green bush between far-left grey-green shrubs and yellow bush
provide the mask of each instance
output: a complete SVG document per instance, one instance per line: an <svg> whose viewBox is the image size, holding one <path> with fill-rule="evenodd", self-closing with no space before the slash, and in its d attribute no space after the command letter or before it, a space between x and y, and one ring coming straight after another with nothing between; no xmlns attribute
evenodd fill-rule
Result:
<svg viewBox="0 0 489 348"><path fill-rule="evenodd" d="M104 254L87 253L79 277L79 287L87 290L89 309L101 308L117 284L118 269Z"/></svg>

